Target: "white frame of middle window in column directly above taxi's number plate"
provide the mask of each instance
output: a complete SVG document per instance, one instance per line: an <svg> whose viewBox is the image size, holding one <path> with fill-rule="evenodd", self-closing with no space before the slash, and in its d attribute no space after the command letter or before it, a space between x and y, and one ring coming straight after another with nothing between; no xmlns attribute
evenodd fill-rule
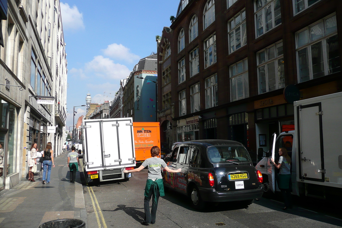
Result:
<svg viewBox="0 0 342 228"><path fill-rule="evenodd" d="M243 17L243 15L245 14L245 18ZM238 25L236 25L236 18L240 17L240 23ZM231 22L234 21L234 27L231 28ZM242 48L243 46L245 46L247 44L247 27L246 27L246 9L241 10L240 12L238 12L237 14L235 14L232 19L230 19L227 23L228 26L228 49L229 49L229 54L235 52L236 50ZM245 36L241 36L242 32L243 32L243 26L245 26ZM242 37L242 39L240 38L240 47L236 48L236 29L240 28L240 37ZM234 50L231 50L231 40L230 40L230 35L233 33L234 35ZM243 39L245 39L245 44L243 43Z"/></svg>

